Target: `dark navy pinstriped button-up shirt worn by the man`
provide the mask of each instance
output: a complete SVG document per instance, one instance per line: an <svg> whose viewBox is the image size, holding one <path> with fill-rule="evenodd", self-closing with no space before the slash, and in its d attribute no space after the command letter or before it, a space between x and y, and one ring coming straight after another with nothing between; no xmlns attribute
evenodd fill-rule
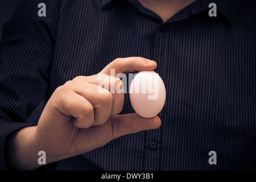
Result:
<svg viewBox="0 0 256 182"><path fill-rule="evenodd" d="M46 3L47 16L38 16ZM216 3L217 16L208 15ZM167 22L137 0L27 0L0 42L4 143L42 98L117 57L155 60L166 85L159 129L125 135L56 170L255 170L255 1L199 0ZM125 94L121 114L134 112ZM217 164L209 164L216 151ZM47 166L46 166L47 167Z"/></svg>

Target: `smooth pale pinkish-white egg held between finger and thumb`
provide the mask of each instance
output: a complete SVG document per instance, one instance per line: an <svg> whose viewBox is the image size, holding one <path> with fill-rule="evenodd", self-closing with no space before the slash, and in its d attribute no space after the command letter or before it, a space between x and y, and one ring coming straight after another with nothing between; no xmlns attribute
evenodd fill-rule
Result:
<svg viewBox="0 0 256 182"><path fill-rule="evenodd" d="M131 81L130 102L138 115L151 118L159 114L166 102L166 87L154 71L141 71Z"/></svg>

